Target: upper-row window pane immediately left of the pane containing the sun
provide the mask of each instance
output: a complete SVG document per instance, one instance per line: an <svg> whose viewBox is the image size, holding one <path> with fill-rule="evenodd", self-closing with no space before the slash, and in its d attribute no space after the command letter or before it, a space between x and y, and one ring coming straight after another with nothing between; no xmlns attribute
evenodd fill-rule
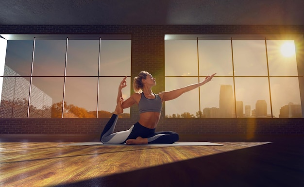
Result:
<svg viewBox="0 0 304 187"><path fill-rule="evenodd" d="M264 40L233 40L236 76L267 76Z"/></svg>

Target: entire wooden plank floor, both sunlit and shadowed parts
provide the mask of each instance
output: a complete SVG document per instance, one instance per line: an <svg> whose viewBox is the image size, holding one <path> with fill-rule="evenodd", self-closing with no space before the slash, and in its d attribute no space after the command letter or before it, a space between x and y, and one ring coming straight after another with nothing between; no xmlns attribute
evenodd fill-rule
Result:
<svg viewBox="0 0 304 187"><path fill-rule="evenodd" d="M0 187L304 186L304 136L180 140L223 146L62 145L97 139L0 136Z"/></svg>

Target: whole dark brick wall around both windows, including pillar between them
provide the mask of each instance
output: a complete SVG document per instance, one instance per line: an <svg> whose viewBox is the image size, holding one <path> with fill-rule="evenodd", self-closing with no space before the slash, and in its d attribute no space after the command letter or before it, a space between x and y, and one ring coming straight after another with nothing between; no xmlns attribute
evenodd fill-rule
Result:
<svg viewBox="0 0 304 187"><path fill-rule="evenodd" d="M164 34L304 34L300 26L238 25L0 25L1 34L132 34L131 78L147 70L156 79L154 92L165 89ZM119 119L116 130L126 130L138 119ZM0 134L99 134L107 119L0 119ZM304 119L165 119L158 131L180 134L304 134Z"/></svg>

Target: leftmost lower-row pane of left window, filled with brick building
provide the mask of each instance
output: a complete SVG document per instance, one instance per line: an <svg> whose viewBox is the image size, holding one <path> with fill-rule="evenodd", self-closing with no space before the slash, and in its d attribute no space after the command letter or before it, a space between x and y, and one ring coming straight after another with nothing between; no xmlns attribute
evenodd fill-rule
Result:
<svg viewBox="0 0 304 187"><path fill-rule="evenodd" d="M27 118L30 82L22 77L3 77L0 118Z"/></svg>

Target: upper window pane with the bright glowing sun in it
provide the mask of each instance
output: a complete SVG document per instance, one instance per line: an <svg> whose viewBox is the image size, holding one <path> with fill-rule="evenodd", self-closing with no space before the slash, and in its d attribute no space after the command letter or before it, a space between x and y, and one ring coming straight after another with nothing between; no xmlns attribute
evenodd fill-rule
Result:
<svg viewBox="0 0 304 187"><path fill-rule="evenodd" d="M293 40L267 40L270 76L298 76Z"/></svg>

